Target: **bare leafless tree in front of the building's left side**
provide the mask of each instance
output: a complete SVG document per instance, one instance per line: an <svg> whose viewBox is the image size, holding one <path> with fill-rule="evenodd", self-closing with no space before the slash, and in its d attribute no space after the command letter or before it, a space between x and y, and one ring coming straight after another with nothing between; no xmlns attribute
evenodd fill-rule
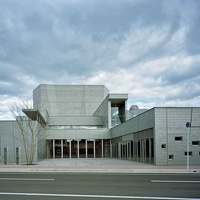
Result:
<svg viewBox="0 0 200 200"><path fill-rule="evenodd" d="M20 133L19 136L21 136L17 137L17 139L23 144L26 163L32 165L37 146L37 138L41 133L42 125L38 121L27 117L23 112L23 109L28 110L31 108L28 105L28 102L25 102L22 99L10 107L10 111L16 119L16 124Z"/></svg>

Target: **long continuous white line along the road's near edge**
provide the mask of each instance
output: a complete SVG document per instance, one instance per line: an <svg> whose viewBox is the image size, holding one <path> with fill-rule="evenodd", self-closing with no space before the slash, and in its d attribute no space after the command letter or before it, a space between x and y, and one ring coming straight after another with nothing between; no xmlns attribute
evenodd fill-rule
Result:
<svg viewBox="0 0 200 200"><path fill-rule="evenodd" d="M112 199L160 199L160 200L198 200L199 198L176 197L143 197L143 196L112 196L112 195L82 195L82 194L44 194L44 193L9 193L0 192L0 195L14 196L48 196L48 197L78 197L78 198L112 198Z"/></svg>

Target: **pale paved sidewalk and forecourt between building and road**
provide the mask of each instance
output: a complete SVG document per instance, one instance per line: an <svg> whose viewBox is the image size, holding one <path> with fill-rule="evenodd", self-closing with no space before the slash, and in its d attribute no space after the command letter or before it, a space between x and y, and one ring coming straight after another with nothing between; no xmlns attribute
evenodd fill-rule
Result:
<svg viewBox="0 0 200 200"><path fill-rule="evenodd" d="M46 159L34 165L0 164L0 172L200 173L200 166L154 166L119 159Z"/></svg>

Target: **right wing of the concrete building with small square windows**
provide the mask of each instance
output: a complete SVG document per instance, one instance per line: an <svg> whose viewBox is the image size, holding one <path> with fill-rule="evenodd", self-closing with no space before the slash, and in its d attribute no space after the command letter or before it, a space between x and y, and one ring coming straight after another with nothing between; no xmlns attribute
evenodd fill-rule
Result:
<svg viewBox="0 0 200 200"><path fill-rule="evenodd" d="M191 122L191 128L186 128ZM116 158L186 165L189 131L190 164L200 164L200 108L152 108L111 129Z"/></svg>

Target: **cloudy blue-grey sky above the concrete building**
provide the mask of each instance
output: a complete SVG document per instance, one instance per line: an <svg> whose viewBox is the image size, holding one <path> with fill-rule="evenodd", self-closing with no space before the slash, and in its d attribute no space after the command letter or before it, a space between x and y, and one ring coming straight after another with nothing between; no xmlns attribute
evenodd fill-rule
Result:
<svg viewBox="0 0 200 200"><path fill-rule="evenodd" d="M200 1L0 5L0 120L42 83L105 85L140 108L200 106Z"/></svg>

